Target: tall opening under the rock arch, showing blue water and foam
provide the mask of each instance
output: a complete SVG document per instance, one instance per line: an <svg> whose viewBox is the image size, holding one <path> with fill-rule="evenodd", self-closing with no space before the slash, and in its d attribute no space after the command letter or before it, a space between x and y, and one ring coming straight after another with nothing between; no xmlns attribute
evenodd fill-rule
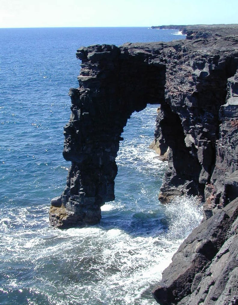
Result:
<svg viewBox="0 0 238 305"><path fill-rule="evenodd" d="M165 230L158 190L167 163L149 148L154 138L158 105L134 112L124 128L116 157L115 200L101 207L101 225L132 236L156 236Z"/></svg>

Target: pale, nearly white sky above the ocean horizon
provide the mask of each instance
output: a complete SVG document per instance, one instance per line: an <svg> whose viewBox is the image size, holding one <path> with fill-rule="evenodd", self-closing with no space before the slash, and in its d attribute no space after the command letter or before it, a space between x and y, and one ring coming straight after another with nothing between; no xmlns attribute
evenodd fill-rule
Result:
<svg viewBox="0 0 238 305"><path fill-rule="evenodd" d="M238 0L0 0L0 28L238 23Z"/></svg>

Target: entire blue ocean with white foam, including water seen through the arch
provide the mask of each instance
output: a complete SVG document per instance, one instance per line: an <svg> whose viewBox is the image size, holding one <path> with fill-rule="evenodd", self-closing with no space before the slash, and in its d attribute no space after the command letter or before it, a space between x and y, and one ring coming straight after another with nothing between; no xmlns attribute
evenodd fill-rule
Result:
<svg viewBox="0 0 238 305"><path fill-rule="evenodd" d="M117 157L113 202L99 225L49 227L62 193L70 87L80 46L184 39L147 28L0 29L0 303L155 304L151 290L201 220L194 198L158 202L167 164L148 148L156 105L133 113Z"/></svg>

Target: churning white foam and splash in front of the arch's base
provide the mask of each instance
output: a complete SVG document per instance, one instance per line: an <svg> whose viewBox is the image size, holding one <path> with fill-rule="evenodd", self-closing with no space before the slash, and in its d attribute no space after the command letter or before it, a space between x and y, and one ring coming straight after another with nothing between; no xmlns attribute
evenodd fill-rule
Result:
<svg viewBox="0 0 238 305"><path fill-rule="evenodd" d="M160 237L135 237L119 228L101 226L61 231L44 225L34 231L32 225L25 226L25 219L21 217L22 228L3 235L3 242L9 247L5 250L9 251L8 255L4 254L5 259L8 257L9 263L25 266L21 272L27 278L37 279L36 285L28 284L31 293L43 296L46 293L44 287L48 287L45 298L49 304L65 304L65 300L70 299L82 305L95 302L152 305L151 290L179 246L176 238L180 239L184 234L183 230L182 233L176 231L177 226L180 229L188 226L185 219L191 216L195 222L201 218L194 203L192 198L178 198L166 206L171 222L168 234ZM110 203L113 204L116 203ZM29 213L26 216L29 217ZM178 222L180 218L183 221ZM5 220L3 217L2 223ZM189 229L192 229L190 224ZM10 278L8 285L26 293L26 284L18 278ZM37 305L33 301L32 304Z"/></svg>

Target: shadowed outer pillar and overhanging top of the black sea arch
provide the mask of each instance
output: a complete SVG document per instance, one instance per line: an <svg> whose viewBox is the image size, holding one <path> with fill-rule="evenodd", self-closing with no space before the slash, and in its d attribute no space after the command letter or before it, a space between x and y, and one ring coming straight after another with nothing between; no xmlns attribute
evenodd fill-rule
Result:
<svg viewBox="0 0 238 305"><path fill-rule="evenodd" d="M146 51L130 55L114 45L96 45L76 56L82 60L80 87L69 91L63 150L72 165L65 191L50 210L51 223L61 228L100 221L100 207L115 198L115 158L127 119L164 99L165 65Z"/></svg>

